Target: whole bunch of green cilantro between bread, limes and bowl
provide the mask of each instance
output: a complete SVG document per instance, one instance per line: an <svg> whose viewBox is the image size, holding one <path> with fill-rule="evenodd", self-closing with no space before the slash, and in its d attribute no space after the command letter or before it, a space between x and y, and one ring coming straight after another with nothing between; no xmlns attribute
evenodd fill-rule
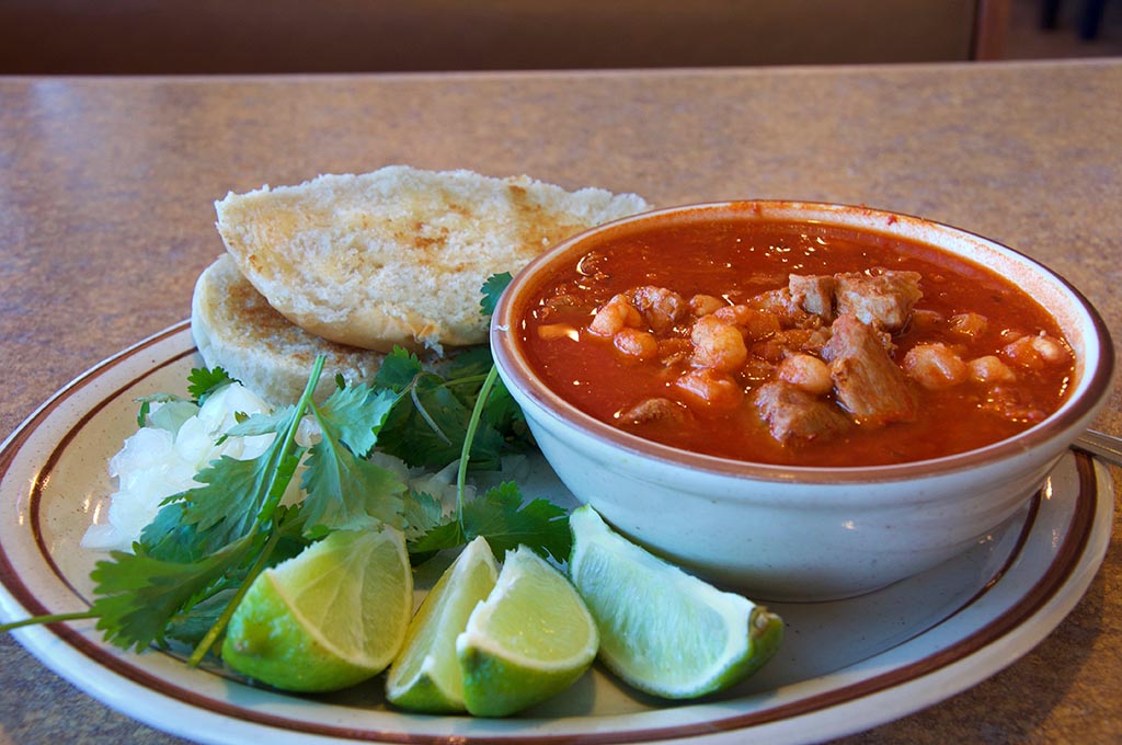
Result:
<svg viewBox="0 0 1122 745"><path fill-rule="evenodd" d="M489 278L480 310L489 315L509 282ZM485 536L502 553L526 544L564 561L571 536L565 512L546 499L526 503L517 485L504 482L467 498L467 473L495 470L506 452L530 444L518 410L490 359L489 349L460 353L440 369L411 352L388 355L371 386L342 380L321 404L312 393L324 359L316 359L297 403L267 415L239 419L226 436L274 434L272 445L249 460L221 457L206 466L193 489L168 497L134 544L114 551L91 574L95 599L89 611L39 616L0 626L96 618L104 638L140 651L168 640L194 646L197 664L221 638L241 597L261 571L295 555L335 530L403 530L420 562L433 553ZM154 402L202 405L234 381L226 370L195 369L190 399L157 394L140 399L145 425ZM311 419L319 440L300 444L301 423ZM423 493L410 491L392 470L369 460L378 449L412 467L443 468L458 461L451 512ZM303 463L303 499L283 505Z"/></svg>

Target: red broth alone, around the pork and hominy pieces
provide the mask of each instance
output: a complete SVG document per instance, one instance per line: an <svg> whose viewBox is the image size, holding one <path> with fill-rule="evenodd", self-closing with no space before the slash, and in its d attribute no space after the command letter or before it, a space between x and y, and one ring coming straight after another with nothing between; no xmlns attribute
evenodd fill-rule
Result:
<svg viewBox="0 0 1122 745"><path fill-rule="evenodd" d="M754 403L760 389L776 379L778 358L790 353L776 353L769 340L749 339L748 362L728 374L742 399L716 405L679 383L697 370L697 355L688 349L697 314L663 329L657 334L660 353L646 359L622 353L611 338L589 331L604 304L640 286L666 288L683 298L716 296L738 305L787 287L791 274L885 269L921 277L922 297L907 324L882 332L885 339L891 337L888 350L895 364L902 366L917 346L944 344L966 362L995 357L1014 379L985 381L969 376L932 388L905 376L914 416L886 423L854 416L835 389L818 398L845 413L850 425L828 436L780 441ZM1074 355L1055 320L1006 279L926 245L844 228L753 221L654 226L595 246L558 267L527 307L521 332L527 359L550 388L577 408L642 438L753 462L854 467L973 450L1021 432L1056 411L1074 370ZM964 333L962 323L951 321L956 316L960 321L963 314L983 318L984 328L972 326ZM1058 343L1059 359L1040 364L1023 355L1018 358L1011 344L1036 338ZM675 348L686 353L671 353ZM671 402L675 415L636 420L632 415L636 405L651 399Z"/></svg>

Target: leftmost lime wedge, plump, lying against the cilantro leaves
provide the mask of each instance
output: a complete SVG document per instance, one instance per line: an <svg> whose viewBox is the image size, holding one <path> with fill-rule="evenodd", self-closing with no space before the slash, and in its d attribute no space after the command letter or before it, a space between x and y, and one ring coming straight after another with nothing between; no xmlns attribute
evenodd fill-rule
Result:
<svg viewBox="0 0 1122 745"><path fill-rule="evenodd" d="M261 572L238 604L222 659L289 691L373 678L401 649L413 574L398 531L338 531Z"/></svg>

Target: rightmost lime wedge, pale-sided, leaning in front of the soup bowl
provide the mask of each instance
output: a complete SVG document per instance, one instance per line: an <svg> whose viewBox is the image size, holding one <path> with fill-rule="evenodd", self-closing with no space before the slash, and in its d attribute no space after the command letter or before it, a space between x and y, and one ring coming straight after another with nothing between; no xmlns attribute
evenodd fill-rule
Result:
<svg viewBox="0 0 1122 745"><path fill-rule="evenodd" d="M783 622L614 532L588 505L569 517L569 573L600 632L600 660L635 688L671 699L720 690L755 672Z"/></svg>

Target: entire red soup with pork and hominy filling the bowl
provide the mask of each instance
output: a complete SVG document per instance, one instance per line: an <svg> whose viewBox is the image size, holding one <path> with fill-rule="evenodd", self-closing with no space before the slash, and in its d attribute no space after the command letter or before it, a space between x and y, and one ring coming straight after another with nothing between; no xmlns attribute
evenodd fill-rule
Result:
<svg viewBox="0 0 1122 745"><path fill-rule="evenodd" d="M1056 411L1074 368L1055 320L1006 279L822 226L609 233L527 307L519 342L558 395L638 436L753 462L973 450Z"/></svg>

